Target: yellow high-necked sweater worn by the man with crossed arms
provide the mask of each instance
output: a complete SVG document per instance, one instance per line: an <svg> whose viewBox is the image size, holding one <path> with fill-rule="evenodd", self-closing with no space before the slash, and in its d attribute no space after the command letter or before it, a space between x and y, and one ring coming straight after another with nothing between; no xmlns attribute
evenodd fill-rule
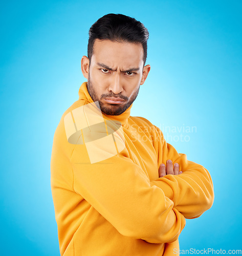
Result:
<svg viewBox="0 0 242 256"><path fill-rule="evenodd" d="M130 109L98 112L84 82L60 120L51 187L61 255L178 255L185 218L213 203L207 169L178 154L148 120L129 116ZM183 173L159 178L168 159Z"/></svg>

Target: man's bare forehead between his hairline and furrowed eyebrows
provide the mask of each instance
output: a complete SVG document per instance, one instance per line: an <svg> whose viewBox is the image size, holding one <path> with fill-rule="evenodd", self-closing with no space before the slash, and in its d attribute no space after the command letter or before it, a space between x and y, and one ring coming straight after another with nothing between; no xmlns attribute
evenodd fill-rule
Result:
<svg viewBox="0 0 242 256"><path fill-rule="evenodd" d="M112 67L143 66L143 47L141 43L96 39L94 42L93 60L111 65Z"/></svg>

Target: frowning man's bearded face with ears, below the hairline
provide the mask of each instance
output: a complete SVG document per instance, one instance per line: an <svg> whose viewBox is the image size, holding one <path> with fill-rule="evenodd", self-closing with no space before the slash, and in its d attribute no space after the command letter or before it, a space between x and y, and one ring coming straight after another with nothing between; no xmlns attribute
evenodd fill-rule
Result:
<svg viewBox="0 0 242 256"><path fill-rule="evenodd" d="M91 64L82 57L82 73L93 101L99 101L107 115L122 114L136 99L149 65L143 69L141 44L98 40L94 42Z"/></svg>

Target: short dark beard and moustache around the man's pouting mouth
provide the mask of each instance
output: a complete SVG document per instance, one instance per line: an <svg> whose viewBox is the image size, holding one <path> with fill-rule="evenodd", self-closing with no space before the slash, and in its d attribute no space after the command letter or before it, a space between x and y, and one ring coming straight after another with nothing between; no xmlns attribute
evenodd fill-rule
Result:
<svg viewBox="0 0 242 256"><path fill-rule="evenodd" d="M111 115L111 116L118 116L121 115L122 113L124 113L125 110L127 110L129 108L129 106L135 101L138 93L140 90L140 86L138 88L138 90L135 92L135 94L129 99L128 97L122 95L121 93L119 94L114 94L113 92L109 93L109 94L102 94L100 98L98 98L97 93L94 89L93 83L90 79L87 80L87 91L89 92L90 96L92 97L93 101L98 101L99 105L100 105L100 109L102 111L102 113L106 114L106 115ZM108 98L108 97L119 97L121 99L126 100L126 104L110 104L110 103L104 103L102 101L103 98Z"/></svg>

